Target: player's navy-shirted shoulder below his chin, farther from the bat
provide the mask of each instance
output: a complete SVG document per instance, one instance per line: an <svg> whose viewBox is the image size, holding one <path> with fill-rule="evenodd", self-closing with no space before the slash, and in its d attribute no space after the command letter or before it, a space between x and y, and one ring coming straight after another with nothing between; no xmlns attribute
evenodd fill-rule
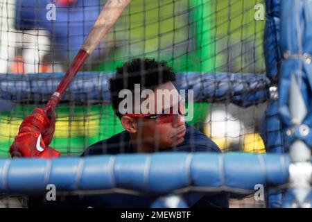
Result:
<svg viewBox="0 0 312 222"><path fill-rule="evenodd" d="M187 133L184 137L183 146L189 146L190 151L210 151L221 153L218 145L212 141L207 135L200 132L197 128L186 124Z"/></svg>

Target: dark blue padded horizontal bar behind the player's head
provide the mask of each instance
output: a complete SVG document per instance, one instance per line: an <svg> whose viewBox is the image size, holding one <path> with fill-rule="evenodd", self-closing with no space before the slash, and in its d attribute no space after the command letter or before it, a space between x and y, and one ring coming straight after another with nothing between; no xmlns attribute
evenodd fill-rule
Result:
<svg viewBox="0 0 312 222"><path fill-rule="evenodd" d="M0 99L15 103L48 101L64 73L0 74ZM110 103L108 79L111 72L80 72L62 97L62 101ZM177 73L178 89L193 89L194 101L232 102L249 106L268 99L270 79L259 74L198 72Z"/></svg>

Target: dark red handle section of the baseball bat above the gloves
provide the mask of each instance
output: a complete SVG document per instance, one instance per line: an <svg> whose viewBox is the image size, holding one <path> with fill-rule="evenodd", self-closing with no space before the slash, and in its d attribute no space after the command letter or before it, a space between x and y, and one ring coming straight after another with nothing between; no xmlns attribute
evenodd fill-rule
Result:
<svg viewBox="0 0 312 222"><path fill-rule="evenodd" d="M87 60L88 56L89 53L87 53L86 50L80 49L80 51L78 51L76 58L71 63L71 66L67 70L65 76L62 78L60 84L55 89L55 92L50 97L49 102L46 104L44 111L49 112L54 110L56 105L58 105L58 102L60 101L62 95L66 91L67 87L69 87L71 80L75 78L76 74L83 66L83 63L85 62L85 60Z"/></svg>

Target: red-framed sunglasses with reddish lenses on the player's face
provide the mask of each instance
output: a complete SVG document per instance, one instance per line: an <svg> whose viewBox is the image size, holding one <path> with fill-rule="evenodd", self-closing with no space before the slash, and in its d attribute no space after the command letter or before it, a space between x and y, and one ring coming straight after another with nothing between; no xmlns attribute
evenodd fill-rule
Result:
<svg viewBox="0 0 312 222"><path fill-rule="evenodd" d="M185 102L179 101L177 105L171 106L160 114L125 114L128 117L141 117L144 119L155 119L157 123L172 123L177 118L177 113L182 117L185 114Z"/></svg>

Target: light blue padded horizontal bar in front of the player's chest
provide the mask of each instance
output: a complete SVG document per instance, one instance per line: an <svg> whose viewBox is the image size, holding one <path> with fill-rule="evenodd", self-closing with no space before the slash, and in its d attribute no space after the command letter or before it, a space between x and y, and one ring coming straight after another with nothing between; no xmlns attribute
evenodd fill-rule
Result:
<svg viewBox="0 0 312 222"><path fill-rule="evenodd" d="M0 193L108 190L164 194L179 189L254 191L288 181L287 156L245 153L153 153L0 160ZM114 190L112 190L114 191ZM115 190L116 191L116 190Z"/></svg>

